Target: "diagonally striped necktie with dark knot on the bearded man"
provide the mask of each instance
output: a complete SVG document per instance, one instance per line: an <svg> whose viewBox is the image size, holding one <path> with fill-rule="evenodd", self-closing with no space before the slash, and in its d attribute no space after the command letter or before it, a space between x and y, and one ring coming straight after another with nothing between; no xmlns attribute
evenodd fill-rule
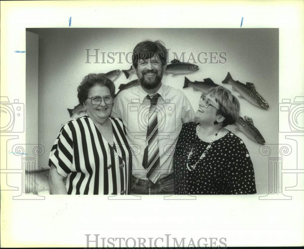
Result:
<svg viewBox="0 0 304 249"><path fill-rule="evenodd" d="M157 129L157 100L160 95L157 93L150 99L149 123L147 128L147 147L143 154L143 168L147 169L147 178L155 183L157 181L157 171L159 168L159 148L158 148L158 129Z"/></svg>

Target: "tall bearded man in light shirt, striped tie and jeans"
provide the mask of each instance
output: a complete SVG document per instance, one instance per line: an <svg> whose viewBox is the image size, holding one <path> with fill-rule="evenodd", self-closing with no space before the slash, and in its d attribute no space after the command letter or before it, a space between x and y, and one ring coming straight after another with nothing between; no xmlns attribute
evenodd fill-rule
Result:
<svg viewBox="0 0 304 249"><path fill-rule="evenodd" d="M133 50L132 67L140 85L117 95L112 116L123 120L132 158L133 194L173 193L173 154L183 123L194 121L183 92L162 83L167 49L146 40Z"/></svg>

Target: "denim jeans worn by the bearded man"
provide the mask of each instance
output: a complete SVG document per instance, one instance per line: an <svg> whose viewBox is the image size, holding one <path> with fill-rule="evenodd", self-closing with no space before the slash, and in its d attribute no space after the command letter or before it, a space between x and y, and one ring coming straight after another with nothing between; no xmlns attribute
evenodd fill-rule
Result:
<svg viewBox="0 0 304 249"><path fill-rule="evenodd" d="M141 180L132 176L131 194L134 195L172 195L173 174L158 179L154 184L150 180Z"/></svg>

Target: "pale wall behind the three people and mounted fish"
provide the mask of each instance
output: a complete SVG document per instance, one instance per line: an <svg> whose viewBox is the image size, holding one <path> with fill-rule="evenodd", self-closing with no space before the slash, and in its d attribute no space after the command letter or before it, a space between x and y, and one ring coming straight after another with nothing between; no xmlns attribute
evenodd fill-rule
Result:
<svg viewBox="0 0 304 249"><path fill-rule="evenodd" d="M114 69L129 69L122 64L85 64L85 48L99 48L100 52L130 52L144 40L162 40L171 52L226 52L225 64L198 64L199 71L188 74L191 81L211 78L222 85L230 71L235 80L253 82L270 108L259 109L240 99L241 115L250 116L266 143L278 143L278 29L28 29L39 34L39 101L38 140L46 147L39 159L39 167L48 167L48 156L60 127L69 120L67 108L78 104L77 86L88 73L106 73ZM169 57L173 59L172 53ZM183 90L194 109L200 92L182 89L184 76L165 75L164 84ZM135 79L136 76L130 80ZM127 83L124 75L116 87ZM231 90L231 85L225 85ZM239 94L232 91L236 96ZM28 105L28 102L26 102ZM259 144L228 127L244 140L254 164L258 193L268 192L268 159L259 154Z"/></svg>

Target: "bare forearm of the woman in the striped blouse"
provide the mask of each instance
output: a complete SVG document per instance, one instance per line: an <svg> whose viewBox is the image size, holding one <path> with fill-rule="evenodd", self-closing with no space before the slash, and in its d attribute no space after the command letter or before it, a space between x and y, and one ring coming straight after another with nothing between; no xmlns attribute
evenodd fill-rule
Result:
<svg viewBox="0 0 304 249"><path fill-rule="evenodd" d="M64 176L57 172L56 167L52 164L49 173L49 185L51 195L67 195L67 189L64 185Z"/></svg>

